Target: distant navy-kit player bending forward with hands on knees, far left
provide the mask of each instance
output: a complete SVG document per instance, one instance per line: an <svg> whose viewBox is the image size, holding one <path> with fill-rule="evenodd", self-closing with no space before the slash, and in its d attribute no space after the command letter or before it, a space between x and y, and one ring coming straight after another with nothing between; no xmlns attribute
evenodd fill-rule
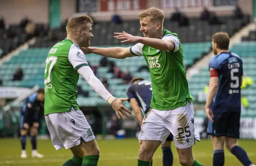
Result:
<svg viewBox="0 0 256 166"><path fill-rule="evenodd" d="M26 98L20 113L20 143L22 147L21 158L27 158L26 136L30 132L32 157L43 158L36 150L36 135L40 119L44 115L44 89Z"/></svg>

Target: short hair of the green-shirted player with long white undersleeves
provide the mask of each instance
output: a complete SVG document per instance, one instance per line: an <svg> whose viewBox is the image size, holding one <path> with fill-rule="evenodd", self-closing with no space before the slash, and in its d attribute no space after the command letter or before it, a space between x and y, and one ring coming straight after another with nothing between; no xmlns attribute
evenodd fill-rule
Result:
<svg viewBox="0 0 256 166"><path fill-rule="evenodd" d="M93 24L92 18L90 18L89 16L76 16L68 20L66 30L70 31L71 29L77 29L80 28L82 25L86 25L88 23L90 23L91 25Z"/></svg>

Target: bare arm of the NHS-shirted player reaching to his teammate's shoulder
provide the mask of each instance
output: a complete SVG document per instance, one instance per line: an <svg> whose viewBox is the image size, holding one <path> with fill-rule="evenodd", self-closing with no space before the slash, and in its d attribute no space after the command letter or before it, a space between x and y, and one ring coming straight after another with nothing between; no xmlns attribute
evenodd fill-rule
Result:
<svg viewBox="0 0 256 166"><path fill-rule="evenodd" d="M84 54L94 53L97 55L102 55L104 57L125 59L127 57L134 57L130 53L130 47L109 47L109 48L99 48L99 47L81 47Z"/></svg>

